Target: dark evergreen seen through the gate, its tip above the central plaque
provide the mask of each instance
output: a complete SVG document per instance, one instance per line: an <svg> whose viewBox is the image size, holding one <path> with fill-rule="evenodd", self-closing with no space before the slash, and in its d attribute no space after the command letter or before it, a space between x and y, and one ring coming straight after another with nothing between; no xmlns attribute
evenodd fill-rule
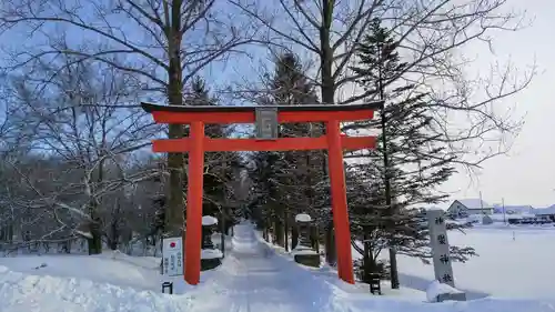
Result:
<svg viewBox="0 0 555 312"><path fill-rule="evenodd" d="M314 104L317 98L313 85L303 74L302 66L293 53L284 53L275 61L275 71L269 83L271 94L265 100L269 104L303 105ZM289 123L280 125L280 137L313 137L321 133L319 124ZM292 244L296 244L296 231L293 218L296 213L306 212L314 215L317 209L314 185L322 179L315 164L321 163L321 151L286 151L255 153L256 170L252 171L256 180L259 203L264 205L266 227L272 223L274 240L287 246L289 229L292 229ZM262 165L262 168L260 168ZM266 177L261 181L260 177ZM255 183L255 184L258 184Z"/></svg>

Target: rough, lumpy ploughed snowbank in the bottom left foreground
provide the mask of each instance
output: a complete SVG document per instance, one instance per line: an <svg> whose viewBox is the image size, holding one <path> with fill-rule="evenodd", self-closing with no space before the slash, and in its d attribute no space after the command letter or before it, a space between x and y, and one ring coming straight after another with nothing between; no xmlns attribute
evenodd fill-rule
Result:
<svg viewBox="0 0 555 312"><path fill-rule="evenodd" d="M0 266L2 312L174 312L190 309L190 303L178 296L74 278L24 274Z"/></svg>

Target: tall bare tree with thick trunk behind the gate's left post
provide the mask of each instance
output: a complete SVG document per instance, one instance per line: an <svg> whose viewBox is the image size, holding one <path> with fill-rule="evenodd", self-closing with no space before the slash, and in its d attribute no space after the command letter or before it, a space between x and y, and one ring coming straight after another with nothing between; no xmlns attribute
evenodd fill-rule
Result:
<svg viewBox="0 0 555 312"><path fill-rule="evenodd" d="M74 56L74 62L97 60L135 74L143 90L160 92L173 105L186 104L183 87L208 64L253 42L251 28L216 0L7 0L0 8L0 28L19 38L24 33L32 43L12 53L11 69L34 68L60 54ZM64 40L71 44L58 44L59 33L71 34ZM182 125L169 128L170 138L183 133ZM174 234L183 225L183 165L182 154L169 154L165 215Z"/></svg>

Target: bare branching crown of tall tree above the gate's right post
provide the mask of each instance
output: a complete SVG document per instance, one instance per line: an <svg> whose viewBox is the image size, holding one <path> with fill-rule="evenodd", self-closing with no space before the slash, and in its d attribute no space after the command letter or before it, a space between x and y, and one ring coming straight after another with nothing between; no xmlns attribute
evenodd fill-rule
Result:
<svg viewBox="0 0 555 312"><path fill-rule="evenodd" d="M254 0L231 2L270 30L266 39L317 64L311 78L324 104L375 99L373 90L353 84L361 74L350 68L357 61L357 43L369 26L381 20L395 34L397 50L407 62L383 87L408 81L431 93L435 100L431 109L444 121L442 140L466 155L461 160L464 164L478 165L504 152L481 143L502 142L522 124L495 108L526 88L534 70L518 74L511 64L494 66L485 77L473 79L464 70L471 61L462 53L471 43L491 47L496 32L524 26L524 16L507 11L506 0L279 0L270 7ZM487 150L476 157L468 153L470 145L474 151Z"/></svg>

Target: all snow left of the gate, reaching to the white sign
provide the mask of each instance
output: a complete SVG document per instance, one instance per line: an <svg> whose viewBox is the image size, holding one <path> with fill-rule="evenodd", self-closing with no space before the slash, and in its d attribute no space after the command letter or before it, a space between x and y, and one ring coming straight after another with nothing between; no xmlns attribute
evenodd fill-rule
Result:
<svg viewBox="0 0 555 312"><path fill-rule="evenodd" d="M189 309L186 301L159 293L159 261L115 255L121 259L112 259L110 254L0 259L0 311L173 312Z"/></svg>

